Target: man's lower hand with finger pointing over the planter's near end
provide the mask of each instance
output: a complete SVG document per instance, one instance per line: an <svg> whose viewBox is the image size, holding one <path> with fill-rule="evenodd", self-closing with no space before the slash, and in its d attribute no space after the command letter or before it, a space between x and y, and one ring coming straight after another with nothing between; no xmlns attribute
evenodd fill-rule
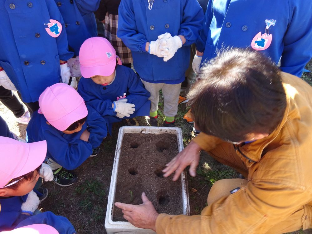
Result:
<svg viewBox="0 0 312 234"><path fill-rule="evenodd" d="M152 229L156 232L156 219L159 214L145 193L142 193L142 201L141 205L115 202L115 206L122 209L124 218L135 227Z"/></svg>

